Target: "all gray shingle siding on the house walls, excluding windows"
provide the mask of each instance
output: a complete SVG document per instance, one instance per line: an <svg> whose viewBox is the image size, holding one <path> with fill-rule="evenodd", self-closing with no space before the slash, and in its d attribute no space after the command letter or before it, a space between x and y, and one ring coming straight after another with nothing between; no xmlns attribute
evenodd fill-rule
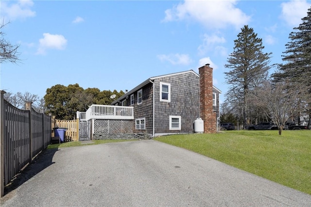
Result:
<svg viewBox="0 0 311 207"><path fill-rule="evenodd" d="M134 132L144 132L150 135L153 135L153 133L158 135L193 132L193 121L200 117L200 77L193 71L189 71L163 77L159 76L153 82L154 84L146 82L147 84L143 84L142 88L137 87L135 91L126 94L128 97L126 105L134 107L134 118L145 118L145 130L134 130ZM170 84L170 102L160 101L160 82ZM140 89L142 89L142 104L137 104L137 91ZM153 93L153 90L155 90L155 93ZM217 105L212 108L216 112L216 120L219 116L219 91L215 88L212 91L216 93L217 97ZM134 94L134 105L131 105L131 94ZM155 95L154 99L153 95ZM122 103L124 99L119 100L119 102ZM154 115L153 100L155 100ZM181 117L180 130L170 130L170 116ZM153 119L155 120L154 132ZM133 127L135 129L135 124Z"/></svg>

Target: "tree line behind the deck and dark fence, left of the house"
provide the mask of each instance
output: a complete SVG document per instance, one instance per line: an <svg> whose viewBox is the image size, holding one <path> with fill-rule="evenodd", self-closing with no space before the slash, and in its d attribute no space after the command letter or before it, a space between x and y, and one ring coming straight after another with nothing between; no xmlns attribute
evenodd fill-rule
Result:
<svg viewBox="0 0 311 207"><path fill-rule="evenodd" d="M111 95L116 97L111 99ZM59 120L73 120L77 111L85 112L92 104L110 105L115 99L124 95L117 90L103 90L98 88L83 89L79 84L63 86L57 84L48 88L43 98L30 92L11 92L4 94L4 99L19 109L25 109L25 102L32 102L32 107L38 113L51 113Z"/></svg>

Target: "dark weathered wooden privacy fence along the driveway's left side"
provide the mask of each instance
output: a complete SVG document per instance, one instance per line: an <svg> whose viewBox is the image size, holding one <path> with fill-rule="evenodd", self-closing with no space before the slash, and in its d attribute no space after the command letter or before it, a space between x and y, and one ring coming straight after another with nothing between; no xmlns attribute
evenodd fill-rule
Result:
<svg viewBox="0 0 311 207"><path fill-rule="evenodd" d="M20 110L0 90L0 196L4 186L51 142L51 116L37 113L32 103Z"/></svg>

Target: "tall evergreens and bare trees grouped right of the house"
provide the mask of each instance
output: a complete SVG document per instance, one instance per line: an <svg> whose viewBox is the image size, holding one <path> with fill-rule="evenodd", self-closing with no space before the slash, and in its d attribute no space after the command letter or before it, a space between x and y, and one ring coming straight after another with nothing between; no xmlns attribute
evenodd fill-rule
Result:
<svg viewBox="0 0 311 207"><path fill-rule="evenodd" d="M239 121L244 129L259 121L273 121L281 135L287 121L300 124L311 118L311 8L289 35L282 64L271 64L262 39L245 25L234 40L227 59L225 80L229 89L222 104L221 121ZM269 71L275 69L269 75ZM296 117L299 117L296 118Z"/></svg>

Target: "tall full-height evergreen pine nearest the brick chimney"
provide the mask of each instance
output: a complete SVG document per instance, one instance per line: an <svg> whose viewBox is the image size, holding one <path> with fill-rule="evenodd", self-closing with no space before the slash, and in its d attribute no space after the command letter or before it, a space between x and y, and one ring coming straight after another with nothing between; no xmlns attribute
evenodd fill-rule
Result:
<svg viewBox="0 0 311 207"><path fill-rule="evenodd" d="M226 98L235 107L241 108L245 128L251 93L267 79L271 53L262 52L264 49L262 39L258 38L253 28L247 25L241 29L234 43L234 51L229 55L228 64L225 65L225 68L231 69L225 72L226 83L231 86Z"/></svg>

